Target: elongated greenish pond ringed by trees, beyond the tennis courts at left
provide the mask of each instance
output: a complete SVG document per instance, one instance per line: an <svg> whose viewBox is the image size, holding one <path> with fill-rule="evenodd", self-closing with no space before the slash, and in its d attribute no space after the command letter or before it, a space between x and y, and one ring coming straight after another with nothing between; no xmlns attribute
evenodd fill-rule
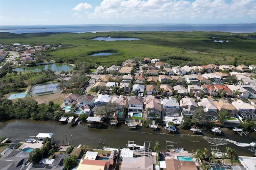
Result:
<svg viewBox="0 0 256 170"><path fill-rule="evenodd" d="M69 64L48 64L48 65L38 65L34 67L20 67L16 69L12 69L12 71L24 72L24 71L42 71L51 69L52 71L62 72L62 71L70 71L74 66Z"/></svg>

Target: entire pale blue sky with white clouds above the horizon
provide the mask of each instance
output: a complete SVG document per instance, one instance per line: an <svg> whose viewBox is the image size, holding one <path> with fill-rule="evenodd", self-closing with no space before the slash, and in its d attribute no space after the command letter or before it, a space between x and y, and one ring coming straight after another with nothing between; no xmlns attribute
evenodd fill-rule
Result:
<svg viewBox="0 0 256 170"><path fill-rule="evenodd" d="M0 0L0 25L256 23L256 0Z"/></svg>

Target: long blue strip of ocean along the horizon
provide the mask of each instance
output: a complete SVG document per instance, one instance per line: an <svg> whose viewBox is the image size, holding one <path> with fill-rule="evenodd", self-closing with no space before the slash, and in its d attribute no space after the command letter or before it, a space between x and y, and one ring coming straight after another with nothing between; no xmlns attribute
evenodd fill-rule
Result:
<svg viewBox="0 0 256 170"><path fill-rule="evenodd" d="M220 31L232 33L256 32L256 24L96 24L0 26L0 32L15 34L39 32L112 32L112 31Z"/></svg>

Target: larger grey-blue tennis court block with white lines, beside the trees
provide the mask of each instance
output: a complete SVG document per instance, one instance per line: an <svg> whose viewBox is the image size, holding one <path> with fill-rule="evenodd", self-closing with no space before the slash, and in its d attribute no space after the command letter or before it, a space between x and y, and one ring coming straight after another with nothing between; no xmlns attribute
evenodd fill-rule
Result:
<svg viewBox="0 0 256 170"><path fill-rule="evenodd" d="M31 90L30 96L46 95L58 92L58 83L44 84L34 86Z"/></svg>

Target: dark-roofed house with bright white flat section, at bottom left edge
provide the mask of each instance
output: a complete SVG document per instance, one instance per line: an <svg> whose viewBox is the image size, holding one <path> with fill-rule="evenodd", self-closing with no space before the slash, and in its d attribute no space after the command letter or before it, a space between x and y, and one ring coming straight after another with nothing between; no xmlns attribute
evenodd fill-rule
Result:
<svg viewBox="0 0 256 170"><path fill-rule="evenodd" d="M58 154L56 158L49 159L49 158L42 158L42 160L30 167L30 170L63 170L65 168L63 164L63 160L68 158L68 154Z"/></svg>

